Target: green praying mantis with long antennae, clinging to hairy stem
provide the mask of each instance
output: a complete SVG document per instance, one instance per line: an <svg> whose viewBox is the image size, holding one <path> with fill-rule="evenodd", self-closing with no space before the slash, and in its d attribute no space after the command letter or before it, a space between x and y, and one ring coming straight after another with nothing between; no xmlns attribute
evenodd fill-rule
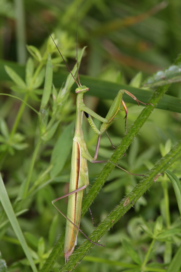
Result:
<svg viewBox="0 0 181 272"><path fill-rule="evenodd" d="M49 32L49 31L48 31ZM49 33L50 34L50 33ZM50 34L51 36L51 34ZM78 30L77 30L78 36ZM51 36L52 38L52 36ZM53 38L52 38L53 40ZM54 42L54 40L53 40ZM55 42L54 42L55 43ZM56 44L55 44L56 45ZM56 45L57 47L57 45ZM78 47L78 42L77 42ZM57 47L58 49L58 47ZM58 49L59 50L59 49ZM78 50L77 50L78 52ZM59 51L63 61L65 62L61 52ZM65 62L69 72L71 73L67 63ZM72 147L72 157L71 157L71 173L70 173L70 183L69 183L69 193L58 197L57 199L52 201L52 204L55 208L67 219L66 222L66 229L65 229L65 244L64 244L64 256L65 256L65 263L68 261L69 256L74 251L75 245L77 244L77 235L78 231L83 233L83 235L94 244L97 244L94 241L91 241L84 232L81 231L79 228L80 225L80 216L81 216L81 203L83 197L83 189L85 189L89 185L89 176L88 176L88 167L87 167L87 160L91 163L103 163L106 160L97 160L99 145L100 145L100 137L106 128L110 125L113 121L114 117L116 116L117 112L119 112L119 108L122 105L125 110L125 132L126 132L126 120L127 120L127 108L125 102L122 100L122 95L125 92L129 96L131 96L139 105L139 102L144 105L152 105L151 103L143 103L139 101L134 95L126 90L119 90L116 98L114 99L109 112L106 115L106 118L101 117L100 115L96 114L90 108L86 107L83 102L84 93L89 91L89 88L86 86L82 86L79 79L78 74L78 53L77 53L77 75L78 75L78 82L71 73L73 79L75 80L78 88L75 90L77 93L77 104L76 104L76 123L75 123L75 134L73 138L73 147ZM84 141L84 135L82 131L82 115L83 112L87 117L87 120L94 130L95 134L98 135L97 146L95 149L94 158L90 155L89 151L87 150L86 143ZM100 130L94 124L92 117L96 118L97 120L101 121L103 124L100 127ZM107 132L106 132L107 134ZM108 134L107 134L108 136ZM108 136L109 138L109 136ZM109 138L110 139L110 138ZM111 141L110 141L111 142ZM111 142L112 144L112 142ZM113 146L113 144L112 144ZM113 148L115 148L113 146ZM67 216L65 216L54 204L56 201L67 197L68 196L68 209L67 209ZM101 244L97 244L101 245ZM103 246L103 245L101 245Z"/></svg>

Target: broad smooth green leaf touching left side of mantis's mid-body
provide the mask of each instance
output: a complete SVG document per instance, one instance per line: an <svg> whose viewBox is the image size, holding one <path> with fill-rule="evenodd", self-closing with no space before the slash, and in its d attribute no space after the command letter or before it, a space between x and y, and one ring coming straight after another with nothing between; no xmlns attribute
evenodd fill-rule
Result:
<svg viewBox="0 0 181 272"><path fill-rule="evenodd" d="M62 171L65 162L70 154L73 141L73 128L74 122L72 122L64 129L53 148L51 156L51 164L53 164L53 167L50 171L50 176L52 178L57 176Z"/></svg>

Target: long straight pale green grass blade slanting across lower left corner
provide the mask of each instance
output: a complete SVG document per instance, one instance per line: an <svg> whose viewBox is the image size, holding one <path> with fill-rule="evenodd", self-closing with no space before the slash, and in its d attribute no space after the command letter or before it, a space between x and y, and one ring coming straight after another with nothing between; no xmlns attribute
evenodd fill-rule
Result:
<svg viewBox="0 0 181 272"><path fill-rule="evenodd" d="M17 218L16 218L16 215L14 213L13 207L11 206L11 202L9 200L9 197L8 197L8 194L7 194L6 188L4 186L1 175L0 175L0 188L1 188L1 190L0 190L0 201L2 203L2 206L3 206L4 210L5 210L5 213L6 213L8 219L9 219L9 221L11 223L12 228L14 229L14 232L15 232L18 240L21 243L21 246L22 246L22 248L24 250L24 253L27 256L28 261L30 262L30 266L31 266L32 270L34 272L37 272L37 268L36 268L35 264L33 263L33 259L31 257L31 253L30 253L29 248L27 246L26 240L25 240L25 238L23 236L20 225L19 225L19 223L17 221Z"/></svg>

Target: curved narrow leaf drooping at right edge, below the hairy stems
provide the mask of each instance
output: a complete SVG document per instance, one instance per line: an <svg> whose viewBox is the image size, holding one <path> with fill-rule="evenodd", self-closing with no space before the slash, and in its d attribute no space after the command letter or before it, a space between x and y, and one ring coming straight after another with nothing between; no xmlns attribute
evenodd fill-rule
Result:
<svg viewBox="0 0 181 272"><path fill-rule="evenodd" d="M181 184L176 175L174 175L170 170L166 170L165 173L167 174L168 178L170 179L175 195L176 195L176 200L177 204L179 207L179 213L181 216Z"/></svg>

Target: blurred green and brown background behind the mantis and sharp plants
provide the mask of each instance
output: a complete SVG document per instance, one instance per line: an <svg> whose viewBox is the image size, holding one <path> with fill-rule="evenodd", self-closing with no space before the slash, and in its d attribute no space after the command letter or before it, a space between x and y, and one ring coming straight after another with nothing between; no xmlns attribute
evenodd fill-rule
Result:
<svg viewBox="0 0 181 272"><path fill-rule="evenodd" d="M26 44L33 45L40 52L44 52L49 39L45 26L50 33L54 33L59 49L69 67L74 66L77 7L78 47L87 46L81 62L80 74L96 79L119 82L124 85L132 84L132 79L136 75L139 75L139 79L143 81L154 72L167 68L181 52L181 2L179 0L162 2L158 0L3 0L0 3L0 80L2 93L12 93L10 90L12 83L9 82L10 78L5 72L4 65L14 67L14 70L24 78L24 65L30 56ZM58 52L55 54L58 56ZM54 68L54 73L59 75L59 71L66 71L65 69L65 66L61 63L59 70L57 67ZM57 86L59 84L60 86ZM60 83L56 83L56 87L60 88L61 84L62 80L60 79ZM180 83L172 84L167 93L181 98ZM71 111L67 116L64 116L65 119L61 123L58 133L63 131L66 125L75 118L74 94L71 94L71 103ZM29 104L37 110L39 109L39 101L30 100ZM105 116L111 102L86 96L85 104L101 116ZM9 131L11 131L14 116L17 115L19 107L20 104L16 100L1 97L0 117L7 123ZM128 104L128 109L129 127L141 111L141 106ZM114 123L110 131L111 138L117 144L124 136L123 118L124 114L122 113L119 115L119 121ZM140 173L140 171L142 173L151 167L161 156L160 145L163 150L165 143L170 147L180 138L180 120L179 113L155 110L147 124L141 129L140 135L133 141L125 158L123 158L122 167L130 172L135 171L137 173ZM86 123L83 125L87 146L93 152L95 143L91 140L94 136L88 125ZM3 130L3 128L1 129ZM25 109L18 131L24 134L27 148L0 157L3 178L12 203L17 199L21 184L28 172L32 150L36 142L34 134L37 133L37 116ZM55 135L53 140L41 147L34 166L32 180L36 180L39 173L47 167L57 138L58 134ZM101 158L106 156L106 158L109 158L112 150L108 148L107 151L107 146L106 139L103 139L100 148ZM3 149L1 151L3 152ZM48 256L51 246L65 227L65 220L62 219L61 215L57 215L56 210L52 207L51 200L63 195L67 190L70 160L71 154L69 154L65 169L60 173L57 180L53 180L51 184L43 187L31 199L27 199L24 208L28 208L28 212L19 218L27 242L35 252L37 252L38 241L39 243L42 241L40 239L44 241L44 253L46 254L38 259L37 263L40 267ZM101 168L101 165L89 164L90 183L94 182ZM180 175L180 164L175 168L177 168L177 174ZM126 193L131 191L138 180L132 176L125 176L124 173L120 174L118 169L114 171L91 207L96 225L119 203ZM139 229L140 215L150 222L154 222L160 215L161 209L163 210L163 205L160 206L160 203L164 197L160 184L161 182L158 182L154 185L154 189L151 188L146 196L141 197L135 208L129 211L123 220L117 223L114 229L110 230L103 238L102 243L106 244L106 248L94 247L90 255L109 260L124 260L129 263L130 258L125 254L120 244L122 237L125 236L132 239L134 246L144 255L144 252L148 249L149 239L141 236ZM170 189L169 193L171 218L174 221L178 216L177 204L173 189ZM66 200L62 201L60 207L66 213ZM5 219L2 212L2 222ZM49 238L52 220L56 223L52 238ZM81 228L86 233L89 233L93 228L88 213L82 220ZM4 225L1 226L0 237L2 238L0 251L8 264L9 271L31 271L24 260L24 253L9 224L6 224L5 227ZM82 239L82 237L78 238L78 244L81 243ZM153 260L162 262L162 254L163 248L157 245ZM52 271L57 271L63 263L64 258L61 254L59 262L56 263L54 269L52 268ZM120 267L112 267L112 265L106 263L100 264L95 260L89 262L85 258L85 261L82 261L81 265L76 268L76 271L92 270L120 271Z"/></svg>

